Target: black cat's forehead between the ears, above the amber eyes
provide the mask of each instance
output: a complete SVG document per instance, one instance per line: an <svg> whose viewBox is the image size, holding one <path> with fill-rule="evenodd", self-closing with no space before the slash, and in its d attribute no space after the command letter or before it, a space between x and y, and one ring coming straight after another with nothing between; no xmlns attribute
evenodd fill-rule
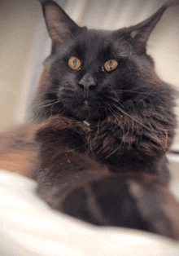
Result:
<svg viewBox="0 0 179 256"><path fill-rule="evenodd" d="M63 45L63 54L68 55L129 55L131 46L125 40L124 35L116 38L113 31L84 29L74 40L65 42ZM114 56L115 57L115 56Z"/></svg>

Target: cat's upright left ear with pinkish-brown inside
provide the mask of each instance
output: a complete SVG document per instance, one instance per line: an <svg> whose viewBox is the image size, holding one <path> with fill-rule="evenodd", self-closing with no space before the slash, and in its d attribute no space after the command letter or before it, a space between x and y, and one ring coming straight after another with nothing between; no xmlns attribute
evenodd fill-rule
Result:
<svg viewBox="0 0 179 256"><path fill-rule="evenodd" d="M59 47L64 39L72 38L81 29L59 5L52 0L39 0L52 40L52 49Z"/></svg>

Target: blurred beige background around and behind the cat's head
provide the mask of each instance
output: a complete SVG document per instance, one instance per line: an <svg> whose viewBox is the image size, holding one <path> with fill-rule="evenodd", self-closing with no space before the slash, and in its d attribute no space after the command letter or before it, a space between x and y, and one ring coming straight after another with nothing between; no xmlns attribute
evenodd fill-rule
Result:
<svg viewBox="0 0 179 256"><path fill-rule="evenodd" d="M120 29L145 20L165 1L57 0L56 2L81 26ZM41 4L37 0L1 0L0 17L0 131L2 131L27 120L29 104L36 90L42 61L50 53L50 38L46 31ZM148 41L147 52L155 60L155 69L159 77L178 89L179 6L170 7L164 12ZM179 101L177 101L176 113L179 119ZM179 129L173 147L179 149ZM172 162L176 162L177 158L173 159Z"/></svg>

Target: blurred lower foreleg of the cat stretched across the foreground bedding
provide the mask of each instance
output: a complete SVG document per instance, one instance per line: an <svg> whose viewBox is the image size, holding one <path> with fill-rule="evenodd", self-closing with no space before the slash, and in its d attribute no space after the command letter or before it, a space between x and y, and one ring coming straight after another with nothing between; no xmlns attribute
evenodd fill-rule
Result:
<svg viewBox="0 0 179 256"><path fill-rule="evenodd" d="M63 212L85 220L84 208L98 225L129 227L179 240L179 202L153 176L146 181L114 175L69 192Z"/></svg>

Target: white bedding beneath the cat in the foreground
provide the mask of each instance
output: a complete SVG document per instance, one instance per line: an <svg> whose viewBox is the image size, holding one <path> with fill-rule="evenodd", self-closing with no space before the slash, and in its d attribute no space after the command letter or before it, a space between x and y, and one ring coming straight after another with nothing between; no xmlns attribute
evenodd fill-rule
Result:
<svg viewBox="0 0 179 256"><path fill-rule="evenodd" d="M0 170L1 256L179 255L179 243L162 236L94 227L57 213L38 198L36 187L31 179Z"/></svg>

